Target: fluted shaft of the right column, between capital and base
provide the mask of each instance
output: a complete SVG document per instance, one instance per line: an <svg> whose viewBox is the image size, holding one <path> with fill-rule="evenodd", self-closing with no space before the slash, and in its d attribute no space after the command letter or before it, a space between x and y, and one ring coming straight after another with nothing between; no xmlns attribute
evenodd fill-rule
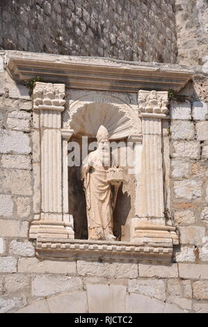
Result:
<svg viewBox="0 0 208 327"><path fill-rule="evenodd" d="M164 224L161 118L142 118L143 151L138 216Z"/></svg>

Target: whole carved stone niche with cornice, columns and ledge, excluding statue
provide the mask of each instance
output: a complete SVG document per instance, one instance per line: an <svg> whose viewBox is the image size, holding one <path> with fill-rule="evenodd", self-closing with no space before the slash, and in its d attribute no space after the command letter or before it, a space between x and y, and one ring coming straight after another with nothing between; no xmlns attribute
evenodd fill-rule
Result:
<svg viewBox="0 0 208 327"><path fill-rule="evenodd" d="M36 240L37 255L170 262L178 235L164 214L170 202L169 141L163 135L170 118L168 89L180 90L193 72L18 54L8 58L8 70L22 81L47 78L33 89L34 220L29 238ZM125 143L118 158L129 151L135 163L131 174L123 167L113 212L115 241L88 239L80 164L67 164L69 143L81 143L82 136L95 141L100 125L110 141Z"/></svg>

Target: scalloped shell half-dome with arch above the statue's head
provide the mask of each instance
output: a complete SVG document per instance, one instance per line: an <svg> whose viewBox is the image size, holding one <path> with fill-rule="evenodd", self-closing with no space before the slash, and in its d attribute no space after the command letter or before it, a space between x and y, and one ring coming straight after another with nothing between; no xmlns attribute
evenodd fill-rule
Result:
<svg viewBox="0 0 208 327"><path fill-rule="evenodd" d="M100 122L108 129L111 140L141 133L138 106L127 104L118 97L103 93L83 93L77 99L66 100L64 128L74 129L74 134L95 138Z"/></svg>

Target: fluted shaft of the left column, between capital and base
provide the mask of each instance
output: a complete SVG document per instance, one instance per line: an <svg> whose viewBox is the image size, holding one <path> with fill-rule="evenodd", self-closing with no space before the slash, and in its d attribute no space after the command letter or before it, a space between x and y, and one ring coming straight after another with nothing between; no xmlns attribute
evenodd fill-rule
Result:
<svg viewBox="0 0 208 327"><path fill-rule="evenodd" d="M62 221L61 111L41 109L42 220Z"/></svg>

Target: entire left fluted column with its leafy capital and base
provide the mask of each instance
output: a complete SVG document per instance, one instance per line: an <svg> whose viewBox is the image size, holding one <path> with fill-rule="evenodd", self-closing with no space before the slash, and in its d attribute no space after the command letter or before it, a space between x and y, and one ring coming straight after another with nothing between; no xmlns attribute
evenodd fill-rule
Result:
<svg viewBox="0 0 208 327"><path fill-rule="evenodd" d="M63 148L61 112L65 85L36 83L33 109L40 115L40 219L31 223L30 237L68 238L72 223L63 215Z"/></svg>

